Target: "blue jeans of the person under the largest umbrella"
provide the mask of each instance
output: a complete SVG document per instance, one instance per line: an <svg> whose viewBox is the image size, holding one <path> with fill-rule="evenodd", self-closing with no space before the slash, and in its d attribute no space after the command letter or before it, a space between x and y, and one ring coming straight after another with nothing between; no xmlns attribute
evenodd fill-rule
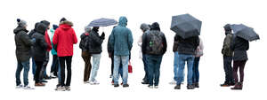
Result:
<svg viewBox="0 0 267 100"><path fill-rule="evenodd" d="M183 79L183 71L185 62L187 62L187 83L192 85L192 75L193 75L193 63L194 63L194 56L193 55L186 55L186 54L178 54L178 81L176 84L181 84Z"/></svg>

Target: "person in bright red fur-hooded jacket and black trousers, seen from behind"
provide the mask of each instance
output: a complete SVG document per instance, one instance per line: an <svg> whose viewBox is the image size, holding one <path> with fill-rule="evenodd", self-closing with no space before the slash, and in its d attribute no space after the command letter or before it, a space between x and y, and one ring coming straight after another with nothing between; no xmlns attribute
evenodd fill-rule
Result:
<svg viewBox="0 0 267 100"><path fill-rule="evenodd" d="M60 27L53 35L54 49L57 51L61 65L61 89L70 90L71 61L73 56L73 44L77 43L77 35L72 28L73 24L67 19L61 19ZM67 82L65 84L65 62L67 63Z"/></svg>

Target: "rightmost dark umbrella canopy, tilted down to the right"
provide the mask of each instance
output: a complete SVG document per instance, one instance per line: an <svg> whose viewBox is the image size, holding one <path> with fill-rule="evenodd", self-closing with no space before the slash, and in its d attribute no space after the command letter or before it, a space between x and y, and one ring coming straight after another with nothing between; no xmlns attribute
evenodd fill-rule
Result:
<svg viewBox="0 0 267 100"><path fill-rule="evenodd" d="M252 27L247 27L243 24L233 24L231 25L231 29L233 34L247 40L247 41L255 41L260 39L260 36L257 35Z"/></svg>

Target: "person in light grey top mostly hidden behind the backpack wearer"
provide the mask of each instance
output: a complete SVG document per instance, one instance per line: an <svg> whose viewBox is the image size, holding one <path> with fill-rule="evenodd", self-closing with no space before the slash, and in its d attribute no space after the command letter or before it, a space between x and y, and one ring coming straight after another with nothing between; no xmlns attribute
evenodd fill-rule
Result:
<svg viewBox="0 0 267 100"><path fill-rule="evenodd" d="M142 30L142 35L150 32L150 26L146 23L142 23L140 29ZM144 71L145 71L145 76L142 79L142 84L149 84L149 81L148 81L148 74L149 73L148 73L147 59L146 59L146 55L144 53L142 53L142 35L140 36L140 38L137 42L138 46L140 46L139 58L142 58L142 63L144 66Z"/></svg>

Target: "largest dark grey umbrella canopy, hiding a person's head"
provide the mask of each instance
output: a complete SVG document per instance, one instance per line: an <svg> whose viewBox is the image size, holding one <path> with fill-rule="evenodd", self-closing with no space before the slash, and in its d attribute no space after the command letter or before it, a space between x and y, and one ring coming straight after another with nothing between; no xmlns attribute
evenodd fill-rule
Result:
<svg viewBox="0 0 267 100"><path fill-rule="evenodd" d="M202 22L190 14L173 16L171 30L183 39L200 35Z"/></svg>

